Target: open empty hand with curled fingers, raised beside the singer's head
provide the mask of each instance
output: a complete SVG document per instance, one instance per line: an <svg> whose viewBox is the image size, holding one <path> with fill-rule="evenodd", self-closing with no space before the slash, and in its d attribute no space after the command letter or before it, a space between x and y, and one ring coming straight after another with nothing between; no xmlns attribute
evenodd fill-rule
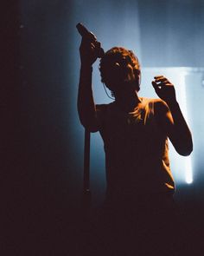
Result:
<svg viewBox="0 0 204 256"><path fill-rule="evenodd" d="M176 102L175 86L163 75L156 75L152 85L158 95L164 102Z"/></svg>

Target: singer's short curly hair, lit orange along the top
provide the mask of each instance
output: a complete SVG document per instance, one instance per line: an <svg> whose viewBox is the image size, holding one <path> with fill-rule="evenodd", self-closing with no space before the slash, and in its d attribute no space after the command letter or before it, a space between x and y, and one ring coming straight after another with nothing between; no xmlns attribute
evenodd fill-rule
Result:
<svg viewBox="0 0 204 256"><path fill-rule="evenodd" d="M112 91L112 95L114 95L116 86L127 82L128 71L130 71L128 65L131 65L134 73L140 74L137 56L131 50L123 47L113 47L106 51L101 58L99 63L101 82L105 83L105 86ZM137 91L139 89L138 82Z"/></svg>

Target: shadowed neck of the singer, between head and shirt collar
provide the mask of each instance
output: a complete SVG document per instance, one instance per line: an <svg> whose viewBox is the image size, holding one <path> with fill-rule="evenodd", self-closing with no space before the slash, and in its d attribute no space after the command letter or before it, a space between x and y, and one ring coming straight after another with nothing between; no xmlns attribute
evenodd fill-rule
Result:
<svg viewBox="0 0 204 256"><path fill-rule="evenodd" d="M131 95L116 95L115 100L118 108L124 112L133 112L137 105L141 102L137 92Z"/></svg>

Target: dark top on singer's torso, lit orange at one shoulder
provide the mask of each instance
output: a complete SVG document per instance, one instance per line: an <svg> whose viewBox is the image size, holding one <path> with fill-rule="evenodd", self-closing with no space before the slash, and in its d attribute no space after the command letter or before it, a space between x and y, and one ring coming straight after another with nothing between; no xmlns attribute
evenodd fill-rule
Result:
<svg viewBox="0 0 204 256"><path fill-rule="evenodd" d="M96 105L105 147L107 194L175 192L168 137L156 121L157 99L140 98L133 112L116 102Z"/></svg>

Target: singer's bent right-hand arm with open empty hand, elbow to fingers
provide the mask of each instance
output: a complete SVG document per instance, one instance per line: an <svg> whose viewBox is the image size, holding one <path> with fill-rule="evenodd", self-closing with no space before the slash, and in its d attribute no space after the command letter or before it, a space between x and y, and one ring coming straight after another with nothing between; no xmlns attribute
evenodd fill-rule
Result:
<svg viewBox="0 0 204 256"><path fill-rule="evenodd" d="M166 130L175 150L182 155L188 155L193 150L192 135L185 121L181 108L176 101L175 87L163 75L155 76L152 85L156 94L164 102L157 104L157 111L160 112L161 125Z"/></svg>

